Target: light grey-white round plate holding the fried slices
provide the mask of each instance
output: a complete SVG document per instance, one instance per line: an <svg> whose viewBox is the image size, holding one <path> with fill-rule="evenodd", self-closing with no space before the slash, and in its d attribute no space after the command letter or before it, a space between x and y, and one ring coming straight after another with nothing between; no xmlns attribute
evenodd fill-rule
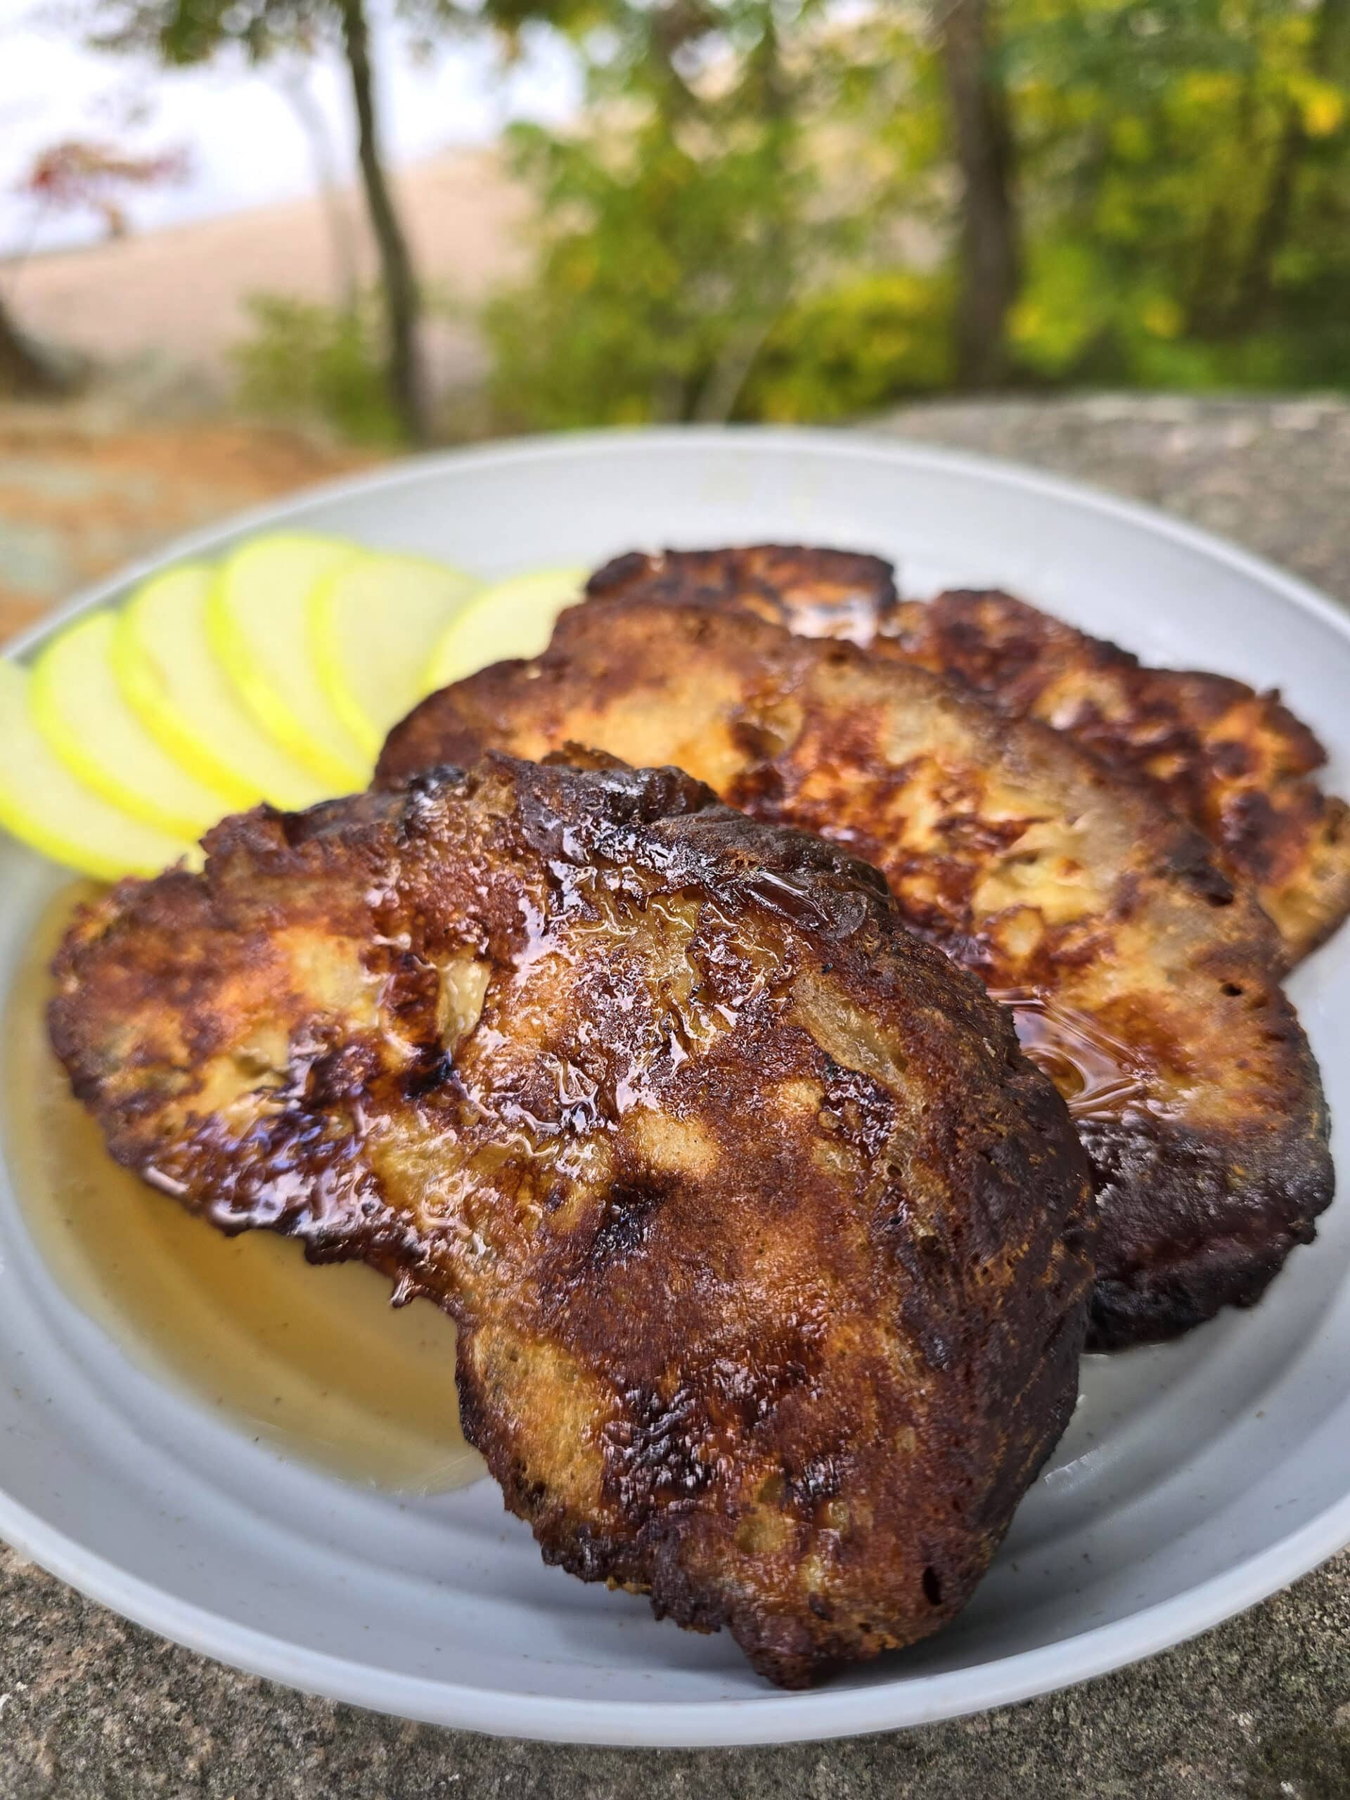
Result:
<svg viewBox="0 0 1350 1800"><path fill-rule="evenodd" d="M997 581L1148 659L1278 682L1328 743L1328 781L1350 787L1341 612L1199 531L1010 466L824 432L553 439L326 488L164 560L281 522L484 576L632 545L880 551L916 594ZM0 848L0 970L52 886ZM1350 932L1292 994L1350 1120ZM916 1724L1147 1656L1350 1539L1348 1262L1341 1202L1253 1314L1089 1359L1075 1422L967 1613L914 1651L779 1694L725 1636L545 1570L491 1483L432 1499L344 1485L142 1373L54 1285L0 1183L0 1534L182 1643L418 1719L632 1744Z"/></svg>

